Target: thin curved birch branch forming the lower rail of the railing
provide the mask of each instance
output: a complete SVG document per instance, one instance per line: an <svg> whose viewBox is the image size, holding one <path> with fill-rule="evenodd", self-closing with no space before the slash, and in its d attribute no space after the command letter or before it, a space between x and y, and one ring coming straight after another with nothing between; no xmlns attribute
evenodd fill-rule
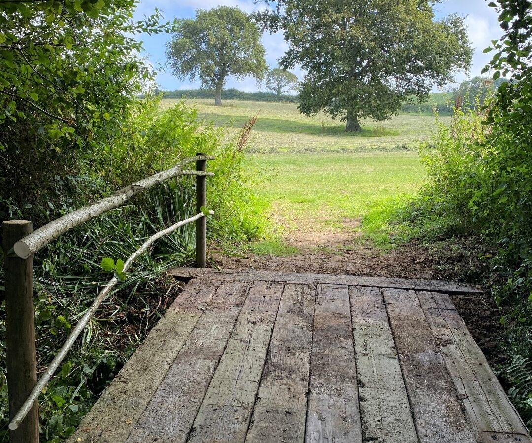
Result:
<svg viewBox="0 0 532 443"><path fill-rule="evenodd" d="M214 211L209 211L209 214L214 214ZM182 220L176 224L172 224L169 228L164 229L160 232L157 232L155 235L148 238L140 248L138 248L133 254L131 254L126 260L126 263L124 263L123 271L126 272L129 269L129 266L131 263L136 260L141 254L146 252L146 249L151 245L155 240L169 234L172 231L175 231L176 229L180 228L181 226L184 226L185 224L192 223L193 221L196 221L202 217L204 217L205 214L203 212L194 215L193 217L190 217L188 219ZM87 312L81 317L81 320L78 322L76 327L72 330L68 338L66 338L63 346L59 350L59 352L55 355L52 362L49 364L49 366L46 369L46 372L42 375L42 377L39 379L33 390L31 391L30 395L26 399L26 401L22 404L19 411L16 413L13 420L11 420L11 423L9 424L9 429L15 430L19 427L19 424L24 420L24 417L28 414L30 409L35 403L35 400L39 397L40 391L44 389L48 381L52 378L52 375L56 371L57 367L61 364L63 361L63 358L66 356L66 354L69 352L69 350L74 345L74 342L79 337L80 333L84 328L86 327L89 320L93 317L94 313L98 309L98 306L103 302L105 297L110 294L111 289L118 283L117 277L113 277L107 285L105 285L105 288L102 289L96 300L94 300L94 303L90 306L90 308L87 310Z"/></svg>

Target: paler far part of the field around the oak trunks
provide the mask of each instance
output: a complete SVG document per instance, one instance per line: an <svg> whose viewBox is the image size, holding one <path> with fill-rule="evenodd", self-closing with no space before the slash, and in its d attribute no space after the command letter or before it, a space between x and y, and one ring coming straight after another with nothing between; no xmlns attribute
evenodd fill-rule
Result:
<svg viewBox="0 0 532 443"><path fill-rule="evenodd" d="M177 102L164 99L161 107L164 110ZM363 132L350 134L344 131L345 123L321 113L307 117L294 103L225 101L223 106L214 106L212 100L188 102L196 105L199 118L212 121L215 126L231 124L231 136L259 112L252 146L261 153L415 149L435 122L434 116L403 114L386 122L364 120ZM450 117L440 119L448 121Z"/></svg>

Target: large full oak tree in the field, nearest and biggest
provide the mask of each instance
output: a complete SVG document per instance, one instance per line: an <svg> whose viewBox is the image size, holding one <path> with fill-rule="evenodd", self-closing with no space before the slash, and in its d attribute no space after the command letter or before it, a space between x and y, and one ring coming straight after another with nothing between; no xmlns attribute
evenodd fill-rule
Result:
<svg viewBox="0 0 532 443"><path fill-rule="evenodd" d="M320 110L361 131L359 119L385 120L403 102L427 101L434 85L469 69L472 49L464 19L436 20L429 0L263 0L255 14L290 47L280 66L307 72L300 110Z"/></svg>

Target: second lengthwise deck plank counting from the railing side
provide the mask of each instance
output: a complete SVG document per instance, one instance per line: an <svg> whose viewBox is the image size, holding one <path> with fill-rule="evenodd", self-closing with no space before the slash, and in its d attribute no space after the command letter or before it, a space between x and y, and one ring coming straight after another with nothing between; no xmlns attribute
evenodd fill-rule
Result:
<svg viewBox="0 0 532 443"><path fill-rule="evenodd" d="M184 443L244 303L249 283L227 281L157 388L127 443Z"/></svg>

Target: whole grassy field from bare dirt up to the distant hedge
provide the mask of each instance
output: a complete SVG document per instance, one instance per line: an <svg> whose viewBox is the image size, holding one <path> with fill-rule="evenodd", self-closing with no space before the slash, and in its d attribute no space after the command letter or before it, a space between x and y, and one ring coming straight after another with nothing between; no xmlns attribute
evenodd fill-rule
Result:
<svg viewBox="0 0 532 443"><path fill-rule="evenodd" d="M212 101L189 102L215 126L232 124L229 137L260 111L248 157L269 179L255 191L288 238L295 231L347 229L386 247L390 215L423 183L417 147L434 128L434 116L366 120L363 133L350 135L342 122L325 115L306 117L295 104L226 101L215 107ZM162 108L174 103L165 99Z"/></svg>

